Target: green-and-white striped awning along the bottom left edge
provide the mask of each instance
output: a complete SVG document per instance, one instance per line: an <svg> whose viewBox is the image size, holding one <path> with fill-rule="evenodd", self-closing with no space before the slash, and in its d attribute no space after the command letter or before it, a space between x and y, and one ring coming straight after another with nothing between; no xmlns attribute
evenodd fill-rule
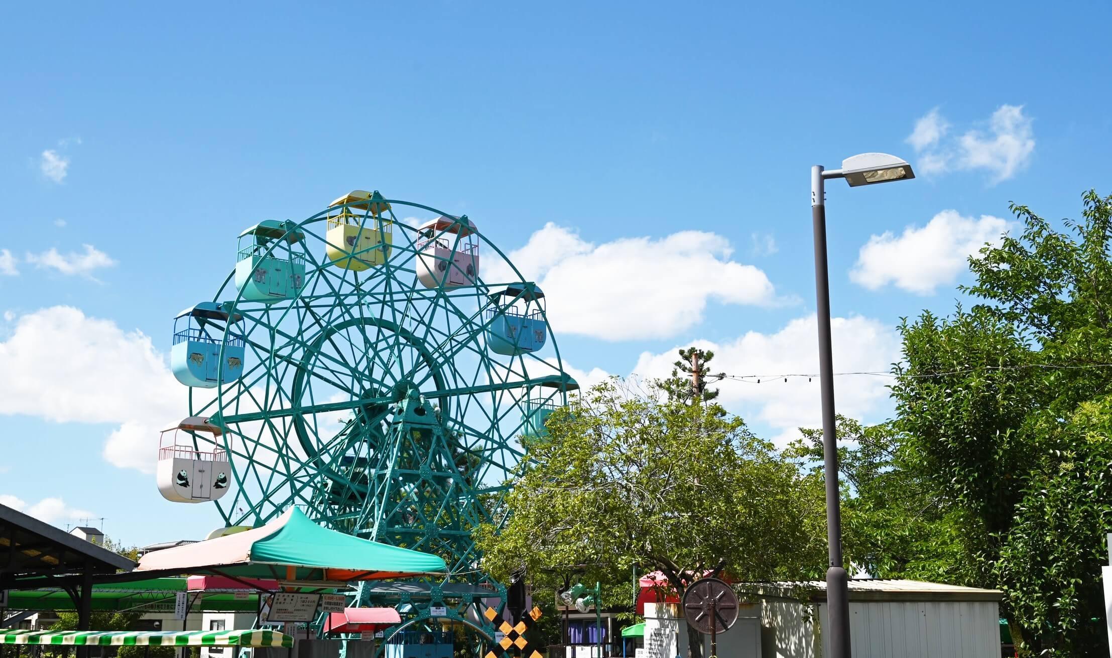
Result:
<svg viewBox="0 0 1112 658"><path fill-rule="evenodd" d="M277 630L0 630L0 645L292 647L294 638Z"/></svg>

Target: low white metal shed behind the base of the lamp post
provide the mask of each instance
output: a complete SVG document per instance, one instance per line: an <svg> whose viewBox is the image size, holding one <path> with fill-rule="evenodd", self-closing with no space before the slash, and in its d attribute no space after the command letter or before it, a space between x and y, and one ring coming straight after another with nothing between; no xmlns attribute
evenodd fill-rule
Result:
<svg viewBox="0 0 1112 658"><path fill-rule="evenodd" d="M826 584L744 586L761 606L762 658L828 656ZM803 601L800 598L804 599ZM1000 658L995 589L919 580L850 580L854 658Z"/></svg>

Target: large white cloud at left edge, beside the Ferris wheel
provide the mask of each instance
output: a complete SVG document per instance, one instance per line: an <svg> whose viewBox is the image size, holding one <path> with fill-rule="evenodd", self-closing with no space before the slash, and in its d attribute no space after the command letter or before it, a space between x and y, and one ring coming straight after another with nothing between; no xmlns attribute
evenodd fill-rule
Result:
<svg viewBox="0 0 1112 658"><path fill-rule="evenodd" d="M152 472L159 430L183 415L182 388L148 336L70 307L21 316L0 342L0 415L112 423L105 458L119 467Z"/></svg>

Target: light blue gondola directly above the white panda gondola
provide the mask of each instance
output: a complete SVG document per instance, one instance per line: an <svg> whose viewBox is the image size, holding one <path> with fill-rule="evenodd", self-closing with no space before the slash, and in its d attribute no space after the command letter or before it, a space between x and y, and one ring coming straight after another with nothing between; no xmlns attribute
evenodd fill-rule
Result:
<svg viewBox="0 0 1112 658"><path fill-rule="evenodd" d="M228 326L228 312L215 301L202 301L173 318L173 347L170 348L170 369L186 386L216 388L219 382L228 382L244 373L244 338L228 332L227 345L224 333ZM232 316L235 325L242 319ZM224 359L220 348L224 347Z"/></svg>

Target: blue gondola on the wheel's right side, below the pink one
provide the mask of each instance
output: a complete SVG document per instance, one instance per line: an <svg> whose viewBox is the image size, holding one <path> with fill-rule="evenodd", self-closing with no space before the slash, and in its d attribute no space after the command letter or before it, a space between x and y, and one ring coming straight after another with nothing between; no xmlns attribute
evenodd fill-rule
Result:
<svg viewBox="0 0 1112 658"><path fill-rule="evenodd" d="M487 295L494 308L488 311L487 346L495 353L517 356L535 352L545 346L545 293L536 283L512 283L492 289Z"/></svg>

